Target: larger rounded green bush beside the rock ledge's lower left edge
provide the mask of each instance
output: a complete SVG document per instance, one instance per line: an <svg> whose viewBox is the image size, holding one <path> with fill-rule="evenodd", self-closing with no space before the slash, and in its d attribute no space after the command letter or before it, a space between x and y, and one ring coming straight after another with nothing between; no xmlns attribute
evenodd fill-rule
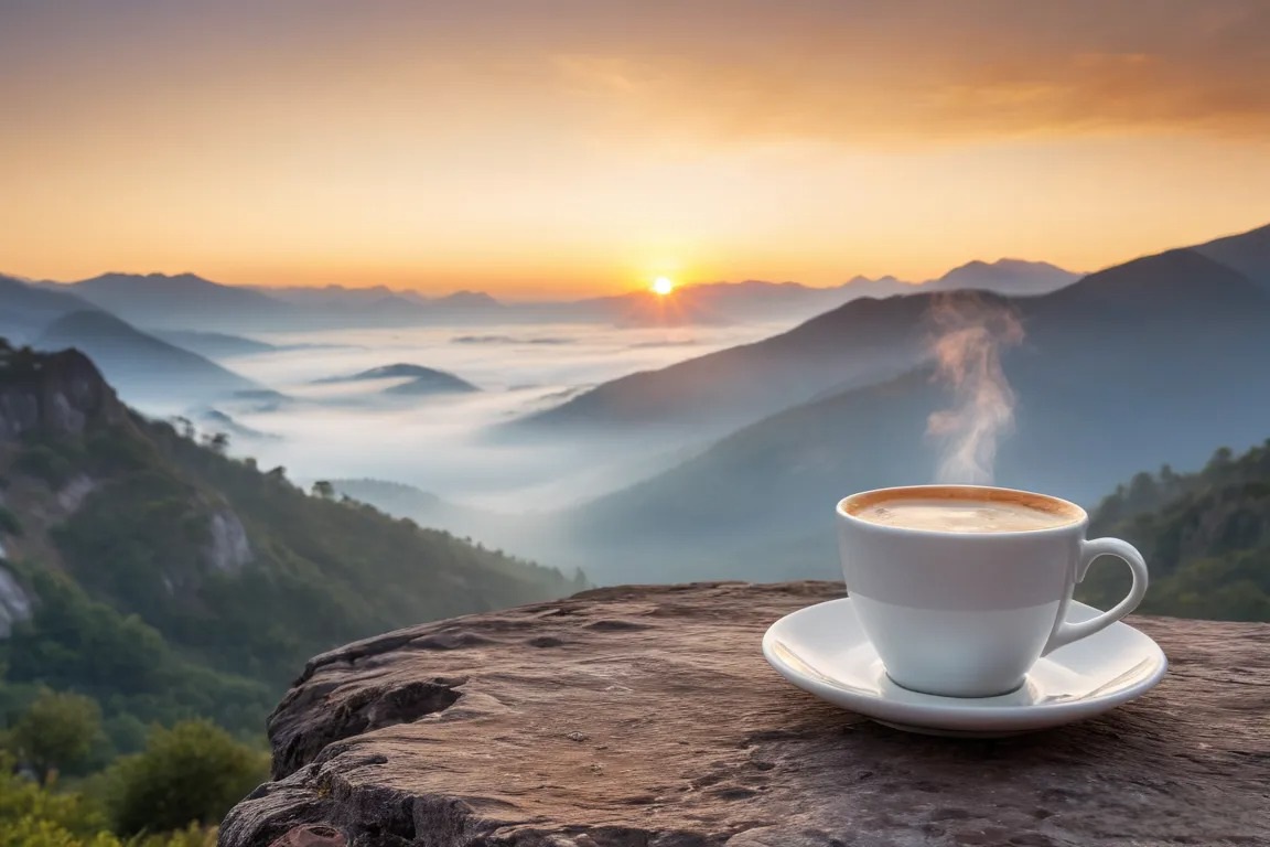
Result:
<svg viewBox="0 0 1270 847"><path fill-rule="evenodd" d="M213 824L265 778L267 758L208 721L155 729L145 752L112 768L114 828L131 836Z"/></svg>

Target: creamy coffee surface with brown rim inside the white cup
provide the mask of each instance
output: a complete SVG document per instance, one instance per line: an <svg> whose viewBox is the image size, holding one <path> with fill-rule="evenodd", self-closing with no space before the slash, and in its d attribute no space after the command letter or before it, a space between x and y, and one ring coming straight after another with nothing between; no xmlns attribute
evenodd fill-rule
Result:
<svg viewBox="0 0 1270 847"><path fill-rule="evenodd" d="M1027 532L1074 523L1076 517L1008 500L892 499L872 503L856 517L890 527L937 532Z"/></svg>

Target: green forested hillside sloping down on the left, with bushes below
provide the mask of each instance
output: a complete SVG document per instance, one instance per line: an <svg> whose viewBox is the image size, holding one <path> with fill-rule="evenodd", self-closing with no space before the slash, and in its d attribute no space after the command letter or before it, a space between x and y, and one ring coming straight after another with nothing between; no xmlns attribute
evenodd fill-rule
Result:
<svg viewBox="0 0 1270 847"><path fill-rule="evenodd" d="M29 349L0 345L0 389L39 391L52 371ZM337 500L329 484L310 497L284 469L225 455L227 437L196 442L185 419L178 429L116 406L85 422L0 444L0 532L24 531L23 551L41 557L5 561L36 603L0 640L0 716L23 715L6 743L39 777L98 772L79 796L0 761L0 847L119 847L86 799L98 794L124 834L194 823L135 847L210 844L202 825L264 775L264 754L243 739L259 738L309 657L575 588Z"/></svg>

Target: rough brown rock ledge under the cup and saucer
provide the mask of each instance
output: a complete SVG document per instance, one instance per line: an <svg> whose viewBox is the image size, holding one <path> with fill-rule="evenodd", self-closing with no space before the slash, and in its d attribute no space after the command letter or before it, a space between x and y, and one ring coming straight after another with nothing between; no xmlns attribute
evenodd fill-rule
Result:
<svg viewBox="0 0 1270 847"><path fill-rule="evenodd" d="M221 844L1270 844L1270 625L1137 618L1172 663L1143 698L941 739L763 662L772 621L839 593L601 589L318 657Z"/></svg>

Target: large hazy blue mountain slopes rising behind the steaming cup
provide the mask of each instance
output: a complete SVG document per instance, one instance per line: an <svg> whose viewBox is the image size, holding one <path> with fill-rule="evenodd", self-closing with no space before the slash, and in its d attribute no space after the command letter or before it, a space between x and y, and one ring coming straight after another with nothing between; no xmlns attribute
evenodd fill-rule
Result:
<svg viewBox="0 0 1270 847"><path fill-rule="evenodd" d="M1265 267L1265 234L1220 248ZM1194 466L1213 444L1265 437L1270 288L1212 253L1146 257L1043 296L979 296L1026 330L1003 353L1017 408L999 483L1090 503L1139 467ZM591 563L603 582L832 575L838 498L933 476L927 419L952 403L928 361L923 320L940 297L949 295L848 302L758 344L624 377L533 417L522 425L563 438L643 433L665 420L685 433L735 430L671 471L559 516L561 537L544 544ZM745 415L751 423L738 423Z"/></svg>

